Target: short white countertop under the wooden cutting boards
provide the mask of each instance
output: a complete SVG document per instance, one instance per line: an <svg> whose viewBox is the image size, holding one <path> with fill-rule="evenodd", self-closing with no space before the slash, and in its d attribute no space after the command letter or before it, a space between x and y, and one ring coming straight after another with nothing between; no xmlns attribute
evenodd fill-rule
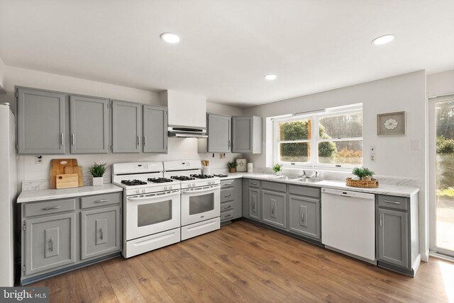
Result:
<svg viewBox="0 0 454 303"><path fill-rule="evenodd" d="M62 198L81 197L84 195L99 195L101 193L116 193L123 191L123 188L114 184L101 186L82 186L80 188L45 189L45 190L23 190L18 196L17 202L35 202Z"/></svg>

